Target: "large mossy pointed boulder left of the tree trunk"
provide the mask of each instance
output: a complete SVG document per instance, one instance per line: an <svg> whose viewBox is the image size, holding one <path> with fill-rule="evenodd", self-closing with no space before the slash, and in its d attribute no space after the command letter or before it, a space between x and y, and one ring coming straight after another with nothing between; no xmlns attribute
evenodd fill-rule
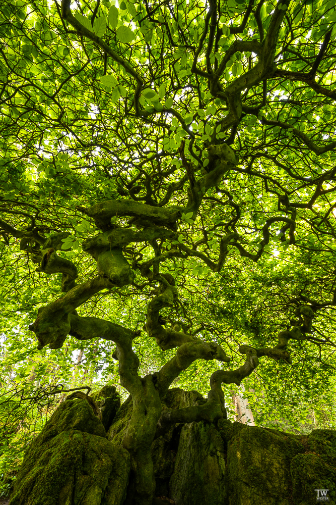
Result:
<svg viewBox="0 0 336 505"><path fill-rule="evenodd" d="M129 467L88 401L67 400L29 447L10 504L121 505Z"/></svg>

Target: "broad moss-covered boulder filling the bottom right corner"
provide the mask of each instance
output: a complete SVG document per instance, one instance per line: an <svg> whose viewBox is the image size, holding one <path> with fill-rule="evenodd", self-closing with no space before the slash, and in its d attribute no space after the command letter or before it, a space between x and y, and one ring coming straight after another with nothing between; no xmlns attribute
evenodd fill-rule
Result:
<svg viewBox="0 0 336 505"><path fill-rule="evenodd" d="M228 505L310 505L316 489L336 503L336 432L300 436L228 421L218 430L227 443Z"/></svg>

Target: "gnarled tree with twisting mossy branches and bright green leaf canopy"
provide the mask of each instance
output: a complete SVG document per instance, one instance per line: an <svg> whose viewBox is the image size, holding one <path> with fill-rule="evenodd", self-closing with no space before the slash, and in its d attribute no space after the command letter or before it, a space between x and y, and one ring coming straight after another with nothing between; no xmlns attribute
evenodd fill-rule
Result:
<svg viewBox="0 0 336 505"><path fill-rule="evenodd" d="M25 314L40 305L29 325L38 349L68 335L115 344L133 401L123 446L135 503L152 502L157 429L225 417L222 384L239 384L260 358L290 365L288 347L303 342L307 362L330 369L335 20L331 1L16 0L2 10L2 255L26 258L11 299ZM283 329L276 344L260 338L259 306L243 324L245 361L228 371L235 340L213 309L235 296L232 269ZM103 317L111 299L117 321ZM166 362L141 377L137 344ZM162 412L195 360L224 364L207 401Z"/></svg>

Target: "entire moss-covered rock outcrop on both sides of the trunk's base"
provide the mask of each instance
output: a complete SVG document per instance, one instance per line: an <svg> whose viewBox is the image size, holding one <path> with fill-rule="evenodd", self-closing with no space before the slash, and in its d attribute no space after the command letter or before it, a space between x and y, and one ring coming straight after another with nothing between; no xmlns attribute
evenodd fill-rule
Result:
<svg viewBox="0 0 336 505"><path fill-rule="evenodd" d="M73 393L60 405L27 451L10 505L133 504L122 448L132 400L113 414L107 436L100 420L105 400L118 405L108 387L89 399ZM178 409L204 401L197 391L174 388L162 403ZM315 490L328 489L323 501L336 505L335 431L299 436L220 419L159 433L151 448L155 504L312 505Z"/></svg>

